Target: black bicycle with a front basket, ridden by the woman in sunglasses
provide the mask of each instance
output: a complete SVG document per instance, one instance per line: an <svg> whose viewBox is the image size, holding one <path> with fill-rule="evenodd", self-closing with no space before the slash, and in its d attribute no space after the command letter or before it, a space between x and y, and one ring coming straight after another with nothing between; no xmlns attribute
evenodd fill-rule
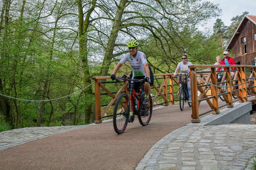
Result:
<svg viewBox="0 0 256 170"><path fill-rule="evenodd" d="M188 89L187 89L187 80L188 74L177 74L178 83L181 84L180 87L180 110L184 109L184 102L188 102ZM188 102L188 106L192 106L190 102Z"/></svg>

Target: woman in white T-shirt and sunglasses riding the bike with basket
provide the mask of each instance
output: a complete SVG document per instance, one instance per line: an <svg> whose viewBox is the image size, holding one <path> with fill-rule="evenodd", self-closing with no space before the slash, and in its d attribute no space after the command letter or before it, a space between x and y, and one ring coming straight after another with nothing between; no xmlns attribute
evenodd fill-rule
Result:
<svg viewBox="0 0 256 170"><path fill-rule="evenodd" d="M180 70L180 73L186 73L189 75L190 69L188 68L188 65L192 65L191 62L187 61L187 55L183 54L183 56L181 56L181 60L182 62L179 62L179 64L177 65L176 70L173 73L173 77L176 77L178 70ZM181 84L180 84L181 87ZM191 103L191 84L190 84L190 76L188 77L188 81L187 81L187 89L188 89L188 102Z"/></svg>

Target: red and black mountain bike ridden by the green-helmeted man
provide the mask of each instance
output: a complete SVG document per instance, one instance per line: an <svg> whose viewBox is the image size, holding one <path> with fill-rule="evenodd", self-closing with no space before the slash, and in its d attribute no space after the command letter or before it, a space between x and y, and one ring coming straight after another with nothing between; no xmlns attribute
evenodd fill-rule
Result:
<svg viewBox="0 0 256 170"><path fill-rule="evenodd" d="M149 104L146 106L142 105L145 97L145 92L142 90L143 80L134 80L123 75L121 78L116 77L116 81L127 83L127 90L129 91L129 97L125 93L120 94L114 106L113 126L116 133L123 133L127 127L130 115L130 104L133 109L132 122L134 121L134 117L137 116L141 125L145 126L149 124L153 108L152 98L149 95ZM139 82L138 93L133 89L134 82Z"/></svg>

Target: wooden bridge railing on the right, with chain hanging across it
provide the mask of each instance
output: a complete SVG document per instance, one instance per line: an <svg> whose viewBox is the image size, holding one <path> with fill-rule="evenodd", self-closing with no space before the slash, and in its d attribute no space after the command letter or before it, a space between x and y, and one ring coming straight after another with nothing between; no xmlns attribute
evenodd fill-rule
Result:
<svg viewBox="0 0 256 170"><path fill-rule="evenodd" d="M256 99L256 80L252 79L256 76L256 66L252 65L222 65L222 67L225 67L225 71L219 71L224 72L223 78L220 83L217 83L217 77L216 77L216 68L219 67L219 65L190 65L188 66L190 68L190 75L191 75L191 96L192 96L192 120L191 122L200 122L199 116L202 116L207 113L212 114L219 114L219 108L227 106L227 107L233 107L233 102L239 101L239 102L245 102L245 101L252 101L255 103ZM235 75L233 80L231 80L231 67L235 67ZM204 81L200 80L198 81L198 71L197 69L203 69L208 68L209 71L205 71L204 73L207 73L208 76L204 77ZM248 69L250 69L248 71ZM247 71L246 71L247 70ZM200 72L202 73L202 72ZM246 76L249 75L249 76ZM248 79L252 79L252 81L247 82ZM203 82L203 83L202 83ZM211 84L208 84L208 83ZM222 88L217 87L217 85L221 86L226 82L226 86L233 86L235 82L238 82L239 86L238 89L235 90L234 87L227 87L227 92L224 93ZM245 83L247 82L247 83ZM211 89L211 95L210 97L207 96L208 90ZM200 92L200 95L198 96L198 91ZM232 92L237 95L237 99L232 99ZM226 104L221 105L218 102L219 96L223 96L225 99ZM248 97L253 97L248 99ZM200 113L199 114L199 105L201 101L206 101L207 104L210 106L210 110Z"/></svg>

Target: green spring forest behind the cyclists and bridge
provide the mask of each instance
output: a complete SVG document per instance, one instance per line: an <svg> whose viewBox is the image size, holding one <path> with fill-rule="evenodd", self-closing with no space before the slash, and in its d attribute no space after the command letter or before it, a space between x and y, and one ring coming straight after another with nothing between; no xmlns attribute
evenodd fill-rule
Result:
<svg viewBox="0 0 256 170"><path fill-rule="evenodd" d="M154 73L172 73L184 53L193 64L214 64L248 14L234 16L230 26L217 19L213 30L199 31L220 16L218 5L199 0L0 0L0 5L0 131L92 123L92 77L111 74L128 52L127 41L139 41ZM125 64L117 75L130 71Z"/></svg>

